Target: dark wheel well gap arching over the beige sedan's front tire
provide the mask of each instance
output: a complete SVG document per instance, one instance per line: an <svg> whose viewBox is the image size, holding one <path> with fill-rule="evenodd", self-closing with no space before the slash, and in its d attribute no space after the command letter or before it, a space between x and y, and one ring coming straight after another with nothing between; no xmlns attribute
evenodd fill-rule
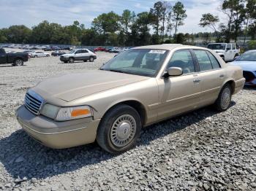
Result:
<svg viewBox="0 0 256 191"><path fill-rule="evenodd" d="M140 115L140 119L141 119L141 125L145 125L145 122L146 122L146 109L145 107L143 106L143 104L141 104L139 101L134 101L134 100L130 100L130 101L122 101L116 105L113 105L110 107L110 109L112 109L113 107L115 106L118 106L119 104L126 104L128 106L131 106L132 108L134 108L138 114ZM108 111L110 110L108 109ZM108 112L107 111L107 112ZM105 112L105 114L107 113ZM105 115L104 114L104 115ZM104 116L103 116L104 117Z"/></svg>

